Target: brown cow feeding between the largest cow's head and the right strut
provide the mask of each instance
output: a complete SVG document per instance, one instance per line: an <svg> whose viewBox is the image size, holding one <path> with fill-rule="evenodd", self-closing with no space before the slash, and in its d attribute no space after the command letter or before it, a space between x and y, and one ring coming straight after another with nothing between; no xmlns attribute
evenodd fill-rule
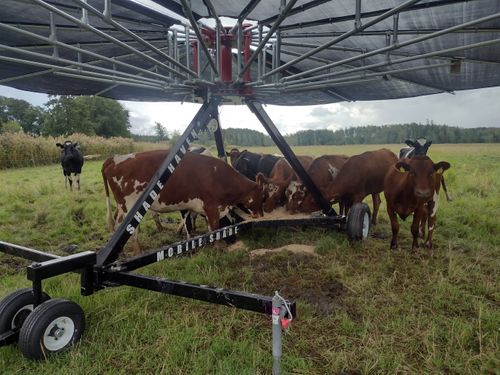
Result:
<svg viewBox="0 0 500 375"><path fill-rule="evenodd" d="M297 156L300 164L307 170L313 158L311 156ZM290 166L286 159L280 159L274 165L269 177L262 173L257 174L256 181L263 186L264 189L264 212L271 212L276 207L285 204L285 190L290 182L297 180L295 171Z"/></svg>

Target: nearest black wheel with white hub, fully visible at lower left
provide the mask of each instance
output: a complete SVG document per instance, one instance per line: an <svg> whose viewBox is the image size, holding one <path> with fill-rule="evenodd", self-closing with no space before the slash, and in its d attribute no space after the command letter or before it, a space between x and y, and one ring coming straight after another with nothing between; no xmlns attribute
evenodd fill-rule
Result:
<svg viewBox="0 0 500 375"><path fill-rule="evenodd" d="M76 343L85 330L80 306L65 299L51 299L37 306L19 333L19 348L30 359L44 359Z"/></svg>

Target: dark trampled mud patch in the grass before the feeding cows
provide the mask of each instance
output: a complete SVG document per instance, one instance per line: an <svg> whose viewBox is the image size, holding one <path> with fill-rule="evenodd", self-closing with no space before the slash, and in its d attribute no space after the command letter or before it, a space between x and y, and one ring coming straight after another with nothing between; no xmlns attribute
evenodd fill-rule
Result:
<svg viewBox="0 0 500 375"><path fill-rule="evenodd" d="M251 259L252 281L259 293L272 295L279 287L280 294L307 302L320 315L347 311L343 304L347 288L326 274L322 266L322 260L310 254L266 253Z"/></svg>

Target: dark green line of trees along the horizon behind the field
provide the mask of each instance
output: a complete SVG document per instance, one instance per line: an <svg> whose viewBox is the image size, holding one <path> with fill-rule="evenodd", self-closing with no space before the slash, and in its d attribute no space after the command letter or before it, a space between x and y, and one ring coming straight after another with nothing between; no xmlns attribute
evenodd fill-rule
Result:
<svg viewBox="0 0 500 375"><path fill-rule="evenodd" d="M325 124L326 126L327 124ZM65 136L73 133L100 137L127 137L135 141L174 143L180 132L169 132L157 122L154 135L136 135L130 132L128 111L116 100L96 96L49 96L44 106L0 96L0 133L19 132L33 136ZM251 129L223 129L226 145L270 146L271 138ZM390 144L404 143L408 138L425 137L435 143L498 143L500 128L459 128L427 124L393 124L361 126L339 130L301 130L284 136L291 146ZM213 145L214 136L206 131L200 134L201 144Z"/></svg>

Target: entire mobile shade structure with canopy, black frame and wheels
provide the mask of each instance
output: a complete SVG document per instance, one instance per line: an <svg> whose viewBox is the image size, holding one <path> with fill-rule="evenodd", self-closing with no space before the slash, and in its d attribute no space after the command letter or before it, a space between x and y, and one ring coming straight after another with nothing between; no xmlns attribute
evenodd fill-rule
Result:
<svg viewBox="0 0 500 375"><path fill-rule="evenodd" d="M337 215L262 104L393 99L500 85L497 0L3 0L1 6L0 84L57 95L203 103L102 250L57 257L0 242L1 251L38 262L28 267L33 288L0 302L8 323L0 327L0 346L19 340L29 358L80 338L81 309L42 291L42 280L78 271L84 295L130 285L273 315L273 371L279 373L280 323L295 315L294 303L131 271L250 227L297 220L241 222L117 260L198 132L215 123L222 156L218 106L246 104L322 208L323 216L301 223L347 227L363 238L366 207L353 207L352 225Z"/></svg>

